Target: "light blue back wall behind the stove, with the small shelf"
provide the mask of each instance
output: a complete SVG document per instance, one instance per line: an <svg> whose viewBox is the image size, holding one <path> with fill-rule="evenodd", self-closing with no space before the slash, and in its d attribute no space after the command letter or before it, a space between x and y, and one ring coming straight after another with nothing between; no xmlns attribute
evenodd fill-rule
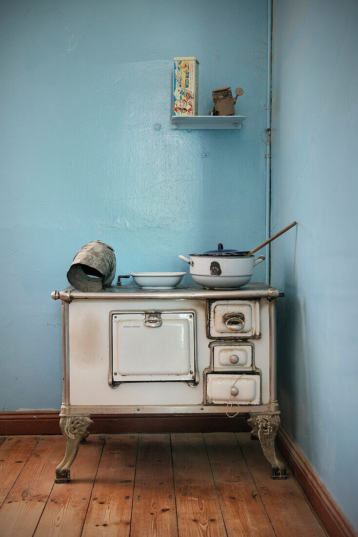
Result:
<svg viewBox="0 0 358 537"><path fill-rule="evenodd" d="M3 0L0 21L0 410L59 408L50 293L83 244L126 274L264 240L267 0ZM200 61L199 113L244 88L241 132L170 130L177 55Z"/></svg>

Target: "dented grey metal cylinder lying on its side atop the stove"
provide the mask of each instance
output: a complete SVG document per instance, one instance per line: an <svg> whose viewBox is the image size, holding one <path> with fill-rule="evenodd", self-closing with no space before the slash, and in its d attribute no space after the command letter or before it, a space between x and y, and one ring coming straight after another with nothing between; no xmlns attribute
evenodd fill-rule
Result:
<svg viewBox="0 0 358 537"><path fill-rule="evenodd" d="M67 279L78 291L96 293L109 287L115 277L115 255L112 246L92 241L79 250L67 273Z"/></svg>

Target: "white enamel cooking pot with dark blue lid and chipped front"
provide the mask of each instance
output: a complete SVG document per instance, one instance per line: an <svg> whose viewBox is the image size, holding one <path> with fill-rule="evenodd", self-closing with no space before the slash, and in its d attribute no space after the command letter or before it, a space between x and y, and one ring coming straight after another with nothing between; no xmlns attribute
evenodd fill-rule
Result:
<svg viewBox="0 0 358 537"><path fill-rule="evenodd" d="M192 253L190 259L179 258L190 265L190 273L197 284L214 289L237 289L249 283L253 267L265 260L265 256L245 257L247 253L224 250L219 244L217 250Z"/></svg>

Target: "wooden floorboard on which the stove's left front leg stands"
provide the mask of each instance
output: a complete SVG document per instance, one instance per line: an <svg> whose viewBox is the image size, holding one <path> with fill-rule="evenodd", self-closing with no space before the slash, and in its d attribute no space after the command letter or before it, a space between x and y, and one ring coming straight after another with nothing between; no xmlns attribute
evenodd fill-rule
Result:
<svg viewBox="0 0 358 537"><path fill-rule="evenodd" d="M77 457L71 466L71 482L54 484L36 527L35 537L80 537L104 441L104 435L93 434L79 446ZM57 463L63 455L64 452Z"/></svg>

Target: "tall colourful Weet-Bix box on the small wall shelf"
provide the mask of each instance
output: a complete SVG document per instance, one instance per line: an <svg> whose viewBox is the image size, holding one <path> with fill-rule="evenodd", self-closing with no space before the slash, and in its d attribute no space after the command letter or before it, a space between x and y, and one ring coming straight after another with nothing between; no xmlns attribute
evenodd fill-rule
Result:
<svg viewBox="0 0 358 537"><path fill-rule="evenodd" d="M173 115L198 115L199 62L174 58Z"/></svg>

